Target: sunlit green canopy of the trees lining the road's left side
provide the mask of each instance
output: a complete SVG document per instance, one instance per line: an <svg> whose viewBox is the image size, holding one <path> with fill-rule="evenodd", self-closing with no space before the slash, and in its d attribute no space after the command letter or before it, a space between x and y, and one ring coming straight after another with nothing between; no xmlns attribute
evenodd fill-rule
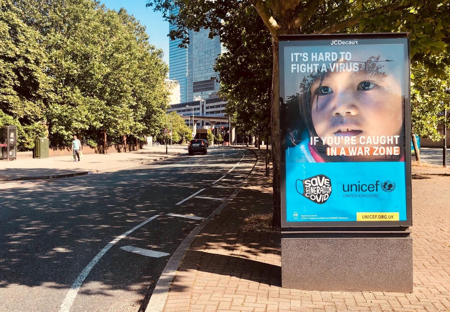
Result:
<svg viewBox="0 0 450 312"><path fill-rule="evenodd" d="M160 130L168 67L125 9L92 0L0 6L0 120L23 128L19 140L32 142L47 127L52 146L74 133L90 141L107 134L115 143Z"/></svg>

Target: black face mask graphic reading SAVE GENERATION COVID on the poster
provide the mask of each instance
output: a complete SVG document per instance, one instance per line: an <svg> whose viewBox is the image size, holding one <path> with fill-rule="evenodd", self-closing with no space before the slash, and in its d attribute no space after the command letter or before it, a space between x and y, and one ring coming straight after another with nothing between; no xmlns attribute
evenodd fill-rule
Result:
<svg viewBox="0 0 450 312"><path fill-rule="evenodd" d="M320 174L311 178L295 181L298 194L315 203L325 203L331 194L331 180L328 176Z"/></svg>

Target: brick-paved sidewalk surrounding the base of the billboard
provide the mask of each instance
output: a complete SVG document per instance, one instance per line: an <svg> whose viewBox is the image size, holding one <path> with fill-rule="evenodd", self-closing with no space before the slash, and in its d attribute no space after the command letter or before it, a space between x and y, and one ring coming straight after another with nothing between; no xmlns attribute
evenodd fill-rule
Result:
<svg viewBox="0 0 450 312"><path fill-rule="evenodd" d="M413 167L412 294L302 291L280 287L280 235L241 230L245 217L272 209L264 159L193 241L164 311L450 311L450 170Z"/></svg>

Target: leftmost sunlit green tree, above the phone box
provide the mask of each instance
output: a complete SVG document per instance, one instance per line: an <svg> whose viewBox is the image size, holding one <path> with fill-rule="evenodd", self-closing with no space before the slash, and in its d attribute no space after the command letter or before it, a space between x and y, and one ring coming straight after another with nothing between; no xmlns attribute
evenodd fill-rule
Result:
<svg viewBox="0 0 450 312"><path fill-rule="evenodd" d="M45 135L40 121L50 82L42 36L23 23L22 14L12 1L0 0L0 125L17 127L18 150Z"/></svg>

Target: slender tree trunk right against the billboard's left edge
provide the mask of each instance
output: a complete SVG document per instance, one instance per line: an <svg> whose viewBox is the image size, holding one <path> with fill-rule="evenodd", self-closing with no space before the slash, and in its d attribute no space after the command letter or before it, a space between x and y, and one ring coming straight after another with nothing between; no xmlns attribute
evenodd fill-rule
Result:
<svg viewBox="0 0 450 312"><path fill-rule="evenodd" d="M281 227L281 176L280 176L280 128L279 128L279 51L278 39L272 37L273 71L272 71L272 106L270 131L272 133L272 185L274 190L274 216L272 226Z"/></svg>

